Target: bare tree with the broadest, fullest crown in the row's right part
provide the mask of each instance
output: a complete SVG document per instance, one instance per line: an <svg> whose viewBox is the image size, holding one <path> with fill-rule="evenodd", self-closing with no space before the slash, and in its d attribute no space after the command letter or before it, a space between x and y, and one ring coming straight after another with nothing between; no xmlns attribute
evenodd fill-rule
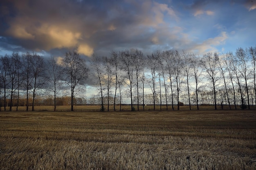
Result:
<svg viewBox="0 0 256 170"><path fill-rule="evenodd" d="M207 53L202 58L202 66L205 69L208 79L213 86L213 96L214 96L214 108L217 110L217 102L216 102L216 83L220 79L218 76L218 59L219 55L217 53Z"/></svg>

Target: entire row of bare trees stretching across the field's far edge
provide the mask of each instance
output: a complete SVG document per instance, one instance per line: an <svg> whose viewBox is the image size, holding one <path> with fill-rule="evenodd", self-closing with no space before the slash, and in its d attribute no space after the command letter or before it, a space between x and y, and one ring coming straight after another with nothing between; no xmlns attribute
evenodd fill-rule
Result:
<svg viewBox="0 0 256 170"><path fill-rule="evenodd" d="M192 104L199 109L207 100L203 94L210 94L208 98L212 98L215 109L218 104L227 104L230 109L237 109L240 104L250 109L256 104L255 54L256 46L203 56L177 50L150 55L138 49L111 51L110 56L92 55L89 75L85 59L76 51L67 52L62 60L46 59L34 52L12 53L0 57L0 95L4 110L7 98L12 110L13 97L19 102L20 93L26 95L27 110L32 96L34 110L35 99L51 94L56 110L56 97L68 94L73 110L74 97L85 93L85 80L89 77L99 92L102 111L109 111L110 105L116 110L117 102L121 110L123 98L127 97L131 110L139 110L139 105L144 110L149 103L154 110L156 104L160 109L171 106L174 110L177 106L179 110L181 102L190 109ZM15 105L18 110L19 104Z"/></svg>

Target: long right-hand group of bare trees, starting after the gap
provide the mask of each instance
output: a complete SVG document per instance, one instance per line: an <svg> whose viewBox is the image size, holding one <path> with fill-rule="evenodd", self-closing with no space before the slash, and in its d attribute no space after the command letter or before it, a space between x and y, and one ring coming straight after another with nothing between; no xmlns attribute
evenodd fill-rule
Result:
<svg viewBox="0 0 256 170"><path fill-rule="evenodd" d="M183 99L187 94L186 104L190 109L193 95L199 109L200 104L204 104L200 97L205 91L213 97L215 109L218 104L227 104L229 109L231 106L237 109L238 104L250 109L256 104L256 47L238 48L235 53L207 53L202 57L177 50L156 51L146 56L138 49L111 51L110 54L110 57L93 55L91 62L92 77L97 77L94 83L100 87L101 110L105 110L103 99L111 96L114 96L115 110L117 93L119 91L121 102L122 89L130 97L131 110L139 110L139 104L144 109L148 89L154 109L157 98L161 109L164 103L166 110L169 105L179 110L181 94ZM254 87L253 91L250 87ZM109 110L109 100L107 106Z"/></svg>

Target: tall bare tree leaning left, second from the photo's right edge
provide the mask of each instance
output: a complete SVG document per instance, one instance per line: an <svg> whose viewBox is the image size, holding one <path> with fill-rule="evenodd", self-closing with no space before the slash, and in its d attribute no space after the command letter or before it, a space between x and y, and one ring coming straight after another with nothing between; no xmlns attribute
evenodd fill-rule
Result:
<svg viewBox="0 0 256 170"><path fill-rule="evenodd" d="M249 68L248 68L247 62L249 61L249 57L243 48L238 48L236 50L236 57L237 57L237 63L238 63L238 71L240 72L240 74L242 75L242 77L245 80L248 109L250 109L249 90L248 90L248 84L247 84L247 81L248 81L247 78L248 78L248 73L249 73L249 71L248 71Z"/></svg>

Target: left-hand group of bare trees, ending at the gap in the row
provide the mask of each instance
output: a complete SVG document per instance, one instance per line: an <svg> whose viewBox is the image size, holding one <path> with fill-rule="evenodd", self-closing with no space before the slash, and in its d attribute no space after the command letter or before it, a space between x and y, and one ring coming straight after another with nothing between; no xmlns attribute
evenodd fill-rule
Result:
<svg viewBox="0 0 256 170"><path fill-rule="evenodd" d="M77 88L88 76L86 62L76 52L66 53L63 60L51 57L46 60L37 53L13 52L11 55L0 57L0 88L3 95L4 111L7 110L7 97L10 101L10 111L13 106L13 97L16 97L16 110L19 106L20 93L26 95L26 110L28 111L29 97L32 96L32 111L35 99L49 94L54 96L54 111L56 97L71 89L71 110L74 106L74 96L83 88ZM63 95L65 95L63 93Z"/></svg>

